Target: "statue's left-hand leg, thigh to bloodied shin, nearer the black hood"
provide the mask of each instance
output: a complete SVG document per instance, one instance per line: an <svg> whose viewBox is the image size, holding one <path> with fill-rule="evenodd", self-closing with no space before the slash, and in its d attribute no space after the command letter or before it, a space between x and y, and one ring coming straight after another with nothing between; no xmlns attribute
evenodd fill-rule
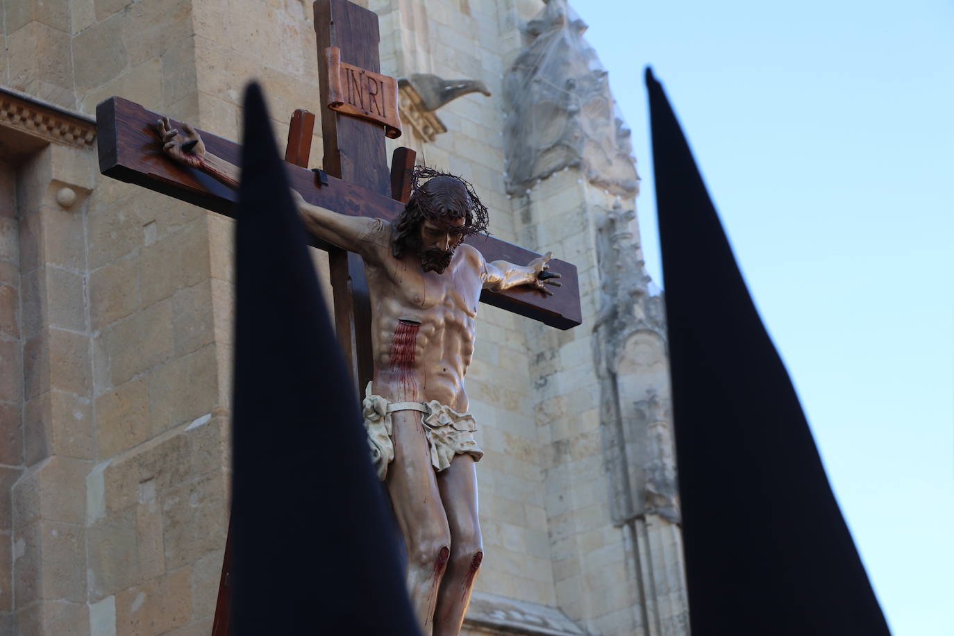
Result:
<svg viewBox="0 0 954 636"><path fill-rule="evenodd" d="M407 590L418 624L431 633L437 591L450 556L450 531L430 463L421 414L393 416L394 461L387 468L387 492L404 536Z"/></svg>

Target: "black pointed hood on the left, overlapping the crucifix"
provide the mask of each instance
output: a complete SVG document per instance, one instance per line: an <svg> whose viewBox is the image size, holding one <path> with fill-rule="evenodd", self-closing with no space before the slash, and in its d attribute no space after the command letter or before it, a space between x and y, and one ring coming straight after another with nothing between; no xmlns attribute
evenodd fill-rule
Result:
<svg viewBox="0 0 954 636"><path fill-rule="evenodd" d="M258 85L236 235L233 634L417 634L345 370Z"/></svg>

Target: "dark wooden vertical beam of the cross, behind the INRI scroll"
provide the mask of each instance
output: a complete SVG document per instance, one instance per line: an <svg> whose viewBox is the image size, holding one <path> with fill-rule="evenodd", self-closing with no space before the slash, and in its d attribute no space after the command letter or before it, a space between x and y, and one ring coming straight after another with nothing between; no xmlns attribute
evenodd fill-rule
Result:
<svg viewBox="0 0 954 636"><path fill-rule="evenodd" d="M338 47L342 62L381 72L378 16L347 0L315 3L321 95L328 94L324 50ZM321 104L324 171L379 195L391 194L384 126L336 113ZM328 253L335 301L335 326L359 393L371 380L371 302L361 256L335 249Z"/></svg>

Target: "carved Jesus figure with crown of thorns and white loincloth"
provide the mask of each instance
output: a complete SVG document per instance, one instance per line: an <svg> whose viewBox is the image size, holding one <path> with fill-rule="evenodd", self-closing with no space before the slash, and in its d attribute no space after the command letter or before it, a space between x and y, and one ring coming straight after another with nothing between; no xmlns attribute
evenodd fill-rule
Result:
<svg viewBox="0 0 954 636"><path fill-rule="evenodd" d="M239 169L211 153L191 126L157 125L176 161L236 188ZM184 150L183 146L188 149ZM393 222L341 215L292 191L314 236L363 257L372 303L374 378L364 425L407 553L407 588L425 634L460 633L484 558L474 440L464 376L473 357L482 289L529 285L552 295L550 253L514 265L487 262L466 236L487 229L470 184L416 168L411 197Z"/></svg>

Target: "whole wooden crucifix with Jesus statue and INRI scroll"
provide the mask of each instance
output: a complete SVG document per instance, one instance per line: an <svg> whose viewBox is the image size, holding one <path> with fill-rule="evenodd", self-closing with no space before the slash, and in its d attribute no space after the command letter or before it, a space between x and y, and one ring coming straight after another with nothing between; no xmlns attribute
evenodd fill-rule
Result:
<svg viewBox="0 0 954 636"><path fill-rule="evenodd" d="M315 29L323 171L307 170L314 117L300 111L289 179L314 244L329 250L338 336L365 387L364 425L404 537L412 605L425 634L457 634L483 559L483 451L464 387L478 301L567 329L580 322L576 271L482 234L487 208L470 184L415 168L413 151L395 151L388 175L384 135L400 134L400 121L396 82L379 73L377 16L318 0ZM97 119L104 174L231 213L236 144L117 97Z"/></svg>

